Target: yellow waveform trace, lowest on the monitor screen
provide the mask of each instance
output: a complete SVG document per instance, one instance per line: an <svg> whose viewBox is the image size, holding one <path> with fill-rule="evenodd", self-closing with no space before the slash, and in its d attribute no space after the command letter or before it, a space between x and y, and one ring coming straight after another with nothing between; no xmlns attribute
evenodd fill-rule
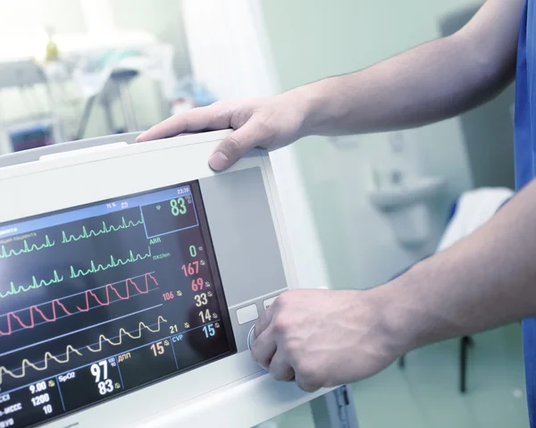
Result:
<svg viewBox="0 0 536 428"><path fill-rule="evenodd" d="M90 345L88 345L86 347L83 347L83 348L87 348L91 352L100 352L102 350L103 340L108 342L112 346L120 346L122 344L123 336L129 336L131 339L140 339L143 329L147 329L148 331L150 331L152 333L155 333L155 332L158 332L158 331L161 330L162 323L167 323L167 321L163 318L162 315L158 316L158 321L156 323L158 327L155 330L153 330L149 326L147 326L146 323L141 322L141 323L138 324L138 329L135 330L135 331L138 331L138 334L136 334L136 335L131 334L131 331L130 332L125 331L121 327L121 329L119 330L119 335L117 336L119 338L119 341L117 343L113 342L113 340L110 340L110 339L106 338L105 335L101 334L99 336L99 339L98 339L99 348L97 350L92 349ZM82 348L80 348L80 349L82 349ZM79 349L75 349L71 345L68 345L67 348L65 348L65 357L63 359L60 358L60 357L54 357L50 352L46 352L45 357L43 358L43 361L42 361L43 365L41 365L41 366L30 362L27 358L24 358L22 360L20 369L15 369L15 370L11 371L11 370L6 369L4 366L0 366L0 385L3 382L4 373L9 374L11 377L13 377L15 379L21 379L24 376L26 376L26 368L27 367L31 367L34 370L37 370L38 372L43 372L48 368L48 361L50 361L50 360L54 360L56 363L60 363L60 364L69 363L69 361L71 360L71 353L75 353L75 354L77 354L79 356L82 355L82 353L80 352ZM14 372L19 372L19 371L21 373L14 373Z"/></svg>

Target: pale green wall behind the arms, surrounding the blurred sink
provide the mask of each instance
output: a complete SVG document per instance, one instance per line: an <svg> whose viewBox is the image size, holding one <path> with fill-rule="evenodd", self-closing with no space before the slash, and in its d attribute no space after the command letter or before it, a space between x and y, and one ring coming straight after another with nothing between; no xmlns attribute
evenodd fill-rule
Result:
<svg viewBox="0 0 536 428"><path fill-rule="evenodd" d="M466 0L264 0L264 19L283 88L356 71L440 36L442 14ZM406 131L419 155L416 168L448 180L436 201L436 227L419 251L400 248L389 222L366 196L368 159L385 147L384 134L348 137L340 151L327 138L305 138L294 147L314 206L331 279L338 288L368 288L430 251L448 202L472 186L459 121Z"/></svg>

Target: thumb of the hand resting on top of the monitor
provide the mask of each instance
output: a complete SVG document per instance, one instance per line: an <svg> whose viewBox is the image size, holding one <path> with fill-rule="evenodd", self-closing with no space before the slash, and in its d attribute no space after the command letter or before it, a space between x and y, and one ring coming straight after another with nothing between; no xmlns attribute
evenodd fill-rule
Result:
<svg viewBox="0 0 536 428"><path fill-rule="evenodd" d="M269 136L260 120L251 119L244 126L235 130L214 149L208 164L215 171L229 168L253 147L263 147Z"/></svg>

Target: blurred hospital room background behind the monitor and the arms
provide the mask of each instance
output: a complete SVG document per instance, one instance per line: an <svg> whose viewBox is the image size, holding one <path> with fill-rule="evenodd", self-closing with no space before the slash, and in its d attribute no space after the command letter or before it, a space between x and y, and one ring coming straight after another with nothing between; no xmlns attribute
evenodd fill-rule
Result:
<svg viewBox="0 0 536 428"><path fill-rule="evenodd" d="M0 154L356 71L456 31L480 4L0 0ZM299 281L375 287L489 219L514 186L513 100L508 88L432 126L273 153ZM416 350L353 389L364 428L527 426L520 325ZM312 417L303 406L266 425Z"/></svg>

